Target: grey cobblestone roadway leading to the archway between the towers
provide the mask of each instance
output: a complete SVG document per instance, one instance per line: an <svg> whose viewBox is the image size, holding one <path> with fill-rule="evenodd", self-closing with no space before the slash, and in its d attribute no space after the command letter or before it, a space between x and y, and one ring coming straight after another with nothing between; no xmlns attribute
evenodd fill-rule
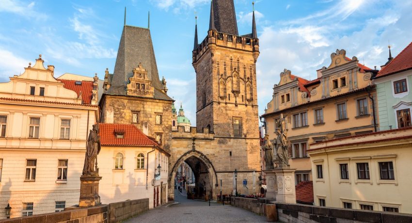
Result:
<svg viewBox="0 0 412 223"><path fill-rule="evenodd" d="M180 204L161 206L129 219L126 223L257 223L266 222L266 217L251 211L222 206L218 203L188 200L174 190L175 201Z"/></svg>

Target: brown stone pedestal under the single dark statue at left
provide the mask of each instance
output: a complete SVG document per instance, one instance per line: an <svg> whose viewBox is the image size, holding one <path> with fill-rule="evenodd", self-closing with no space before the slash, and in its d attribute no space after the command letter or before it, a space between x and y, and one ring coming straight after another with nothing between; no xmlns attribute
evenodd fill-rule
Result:
<svg viewBox="0 0 412 223"><path fill-rule="evenodd" d="M80 176L80 199L79 207L93 207L100 205L99 180L98 175Z"/></svg>

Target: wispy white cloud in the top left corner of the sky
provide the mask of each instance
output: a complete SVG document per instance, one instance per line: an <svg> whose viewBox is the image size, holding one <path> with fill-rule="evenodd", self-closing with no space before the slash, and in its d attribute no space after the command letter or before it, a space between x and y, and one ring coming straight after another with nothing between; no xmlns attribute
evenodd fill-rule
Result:
<svg viewBox="0 0 412 223"><path fill-rule="evenodd" d="M35 2L24 3L18 0L0 0L0 12L14 13L22 17L47 19L47 15L35 11Z"/></svg>

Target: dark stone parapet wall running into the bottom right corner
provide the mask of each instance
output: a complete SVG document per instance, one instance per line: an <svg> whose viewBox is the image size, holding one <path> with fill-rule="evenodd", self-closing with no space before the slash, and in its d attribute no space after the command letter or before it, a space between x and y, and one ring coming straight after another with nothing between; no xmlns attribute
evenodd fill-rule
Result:
<svg viewBox="0 0 412 223"><path fill-rule="evenodd" d="M233 203L233 202L232 202ZM293 223L410 223L411 214L367 211L336 207L318 207L300 204L273 202L280 222Z"/></svg>

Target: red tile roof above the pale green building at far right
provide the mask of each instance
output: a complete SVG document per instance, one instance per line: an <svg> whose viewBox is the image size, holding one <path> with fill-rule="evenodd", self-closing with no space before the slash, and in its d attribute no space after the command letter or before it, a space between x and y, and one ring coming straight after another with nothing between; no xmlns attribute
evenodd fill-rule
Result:
<svg viewBox="0 0 412 223"><path fill-rule="evenodd" d="M376 78L412 69L412 42L404 48L388 65L378 72Z"/></svg>

